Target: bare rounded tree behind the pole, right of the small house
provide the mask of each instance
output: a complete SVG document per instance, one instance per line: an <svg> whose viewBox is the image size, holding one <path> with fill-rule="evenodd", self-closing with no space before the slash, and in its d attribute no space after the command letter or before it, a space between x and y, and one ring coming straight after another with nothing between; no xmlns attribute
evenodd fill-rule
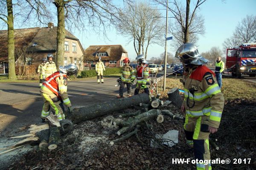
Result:
<svg viewBox="0 0 256 170"><path fill-rule="evenodd" d="M163 42L163 20L157 8L153 8L147 2L125 6L119 13L117 30L129 37L136 54L145 54L145 58L150 44Z"/></svg>

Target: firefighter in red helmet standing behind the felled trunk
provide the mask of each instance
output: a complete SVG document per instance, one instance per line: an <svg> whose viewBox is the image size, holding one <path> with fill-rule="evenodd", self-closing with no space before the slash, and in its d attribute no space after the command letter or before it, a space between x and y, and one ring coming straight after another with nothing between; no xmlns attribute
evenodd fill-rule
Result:
<svg viewBox="0 0 256 170"><path fill-rule="evenodd" d="M125 63L125 65L122 67L122 75L120 77L121 79L121 84L120 84L120 88L119 88L119 96L117 96L117 98L123 98L123 90L125 88L125 84L127 86L127 96L130 97L131 96L131 76L134 72L134 68L129 65L130 64L130 60L128 58L123 59L123 62Z"/></svg>

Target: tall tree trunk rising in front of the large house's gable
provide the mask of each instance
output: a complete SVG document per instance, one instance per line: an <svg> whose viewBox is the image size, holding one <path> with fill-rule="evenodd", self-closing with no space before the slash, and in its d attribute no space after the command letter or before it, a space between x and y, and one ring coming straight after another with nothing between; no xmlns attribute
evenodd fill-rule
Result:
<svg viewBox="0 0 256 170"><path fill-rule="evenodd" d="M65 41L65 17L64 17L64 0L55 0L55 6L58 13L57 26L57 68L64 64L64 41ZM70 49L70 44L69 44Z"/></svg>

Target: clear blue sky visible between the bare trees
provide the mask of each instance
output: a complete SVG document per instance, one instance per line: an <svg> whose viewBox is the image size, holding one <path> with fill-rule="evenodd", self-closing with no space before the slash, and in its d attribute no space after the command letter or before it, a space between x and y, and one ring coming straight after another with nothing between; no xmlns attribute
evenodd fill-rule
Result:
<svg viewBox="0 0 256 170"><path fill-rule="evenodd" d="M183 1L185 3L185 0L182 0L181 2ZM195 3L195 0L191 1L192 4ZM122 0L114 0L114 2L118 5L122 5ZM222 49L222 43L226 38L232 35L238 22L246 17L247 14L256 14L255 7L256 0L225 0L225 2L222 2L222 0L207 0L202 4L198 13L204 16L206 34L199 37L199 53L208 51L213 46L218 46ZM165 17L165 11L162 11L162 13L163 17ZM57 20L54 20L53 23L57 26ZM18 27L15 26L15 28ZM131 59L136 57L132 42L128 43L128 38L118 34L114 28L111 28L110 31L108 31L108 39L104 39L102 35L97 35L93 33L93 31L84 34L76 31L73 32L73 34L79 38L84 48L87 48L89 45L121 44L128 51L128 56ZM171 35L169 34L168 37L169 36ZM172 42L172 40L168 41L167 49L168 52L175 54L176 50L172 50L170 47L170 43ZM148 58L159 57L163 52L164 46L151 45L148 49Z"/></svg>

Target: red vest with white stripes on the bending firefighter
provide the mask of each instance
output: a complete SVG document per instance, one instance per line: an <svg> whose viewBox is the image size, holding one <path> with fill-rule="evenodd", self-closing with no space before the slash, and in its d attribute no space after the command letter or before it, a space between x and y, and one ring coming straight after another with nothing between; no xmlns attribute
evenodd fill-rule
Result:
<svg viewBox="0 0 256 170"><path fill-rule="evenodd" d="M61 99L61 96L59 94L59 87L58 87L58 83L57 83L56 79L61 76L67 77L67 74L63 74L63 73L57 71L57 72L53 73L52 75L50 75L49 77L47 77L43 82L43 85L45 87L47 87L50 91L52 91L52 93L56 94L56 96L58 96L59 99Z"/></svg>

